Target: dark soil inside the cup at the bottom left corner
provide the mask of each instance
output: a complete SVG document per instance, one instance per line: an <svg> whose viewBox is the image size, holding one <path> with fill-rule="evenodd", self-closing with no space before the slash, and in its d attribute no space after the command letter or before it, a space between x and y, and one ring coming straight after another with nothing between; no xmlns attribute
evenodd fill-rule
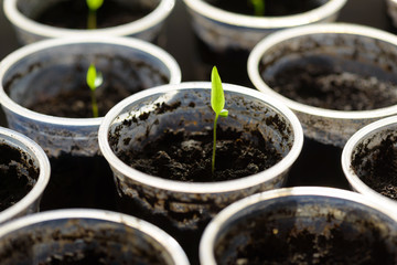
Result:
<svg viewBox="0 0 397 265"><path fill-rule="evenodd" d="M92 221L81 226L78 220L57 220L8 235L0 250L1 264L165 264L159 245L141 232Z"/></svg>

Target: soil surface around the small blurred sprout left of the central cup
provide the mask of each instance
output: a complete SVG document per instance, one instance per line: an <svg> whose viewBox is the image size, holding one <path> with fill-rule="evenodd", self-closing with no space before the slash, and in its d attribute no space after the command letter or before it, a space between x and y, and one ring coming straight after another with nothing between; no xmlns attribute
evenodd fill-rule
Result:
<svg viewBox="0 0 397 265"><path fill-rule="evenodd" d="M114 85L103 85L96 89L97 105L99 117L103 117L117 103L131 94L144 89L143 86L133 87L129 91L127 87ZM79 89L62 91L55 96L45 97L34 103L34 105L26 106L29 109L52 115L56 117L68 118L92 118L92 92L86 84L81 84Z"/></svg>

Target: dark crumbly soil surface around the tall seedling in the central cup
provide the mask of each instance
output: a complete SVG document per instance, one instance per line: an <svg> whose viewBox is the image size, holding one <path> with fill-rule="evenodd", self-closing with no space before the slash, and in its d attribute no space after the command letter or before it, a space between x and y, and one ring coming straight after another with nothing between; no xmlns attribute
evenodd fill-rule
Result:
<svg viewBox="0 0 397 265"><path fill-rule="evenodd" d="M258 131L251 131L258 136ZM254 137L253 137L254 138ZM142 151L120 151L117 156L130 167L151 176L186 182L233 180L258 173L282 159L272 144L257 137L254 142L240 131L217 129L215 172L212 174L213 131L189 136L185 130L164 131ZM172 145L170 145L172 142Z"/></svg>

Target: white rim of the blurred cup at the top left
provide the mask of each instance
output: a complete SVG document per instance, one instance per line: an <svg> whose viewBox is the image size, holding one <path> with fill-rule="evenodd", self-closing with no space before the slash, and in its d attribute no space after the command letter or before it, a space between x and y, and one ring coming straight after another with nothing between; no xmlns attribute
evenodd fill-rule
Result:
<svg viewBox="0 0 397 265"><path fill-rule="evenodd" d="M132 35L146 31L147 29L153 28L171 13L175 6L175 0L161 0L159 6L151 11L148 15L117 26L96 29L96 30L77 30L77 29L64 29L52 25L39 23L18 10L18 0L4 0L3 10L6 17L18 28L32 32L36 35L44 38L64 38L68 35Z"/></svg>

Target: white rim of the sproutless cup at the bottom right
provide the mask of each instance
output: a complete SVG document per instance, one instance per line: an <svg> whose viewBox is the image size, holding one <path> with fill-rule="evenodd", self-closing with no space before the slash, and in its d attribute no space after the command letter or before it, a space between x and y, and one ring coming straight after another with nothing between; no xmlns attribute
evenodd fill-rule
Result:
<svg viewBox="0 0 397 265"><path fill-rule="evenodd" d="M223 227L225 223L227 223L227 220L233 218L235 214L237 214L240 211L244 211L244 209L247 209L249 206L253 206L255 204L259 204L262 201L266 200L272 200L272 199L280 199L286 197L304 197L304 195L311 195L311 197L323 197L323 198L334 198L334 199L342 199L342 200L348 200L351 202L364 204L365 206L372 208L379 212L380 214L384 214L391 220L397 221L397 215L391 215L387 209L383 208L383 205L374 203L373 201L365 198L363 194L336 189L336 188L328 188L328 187L293 187L293 188L282 188L282 189L276 189L270 191L265 191L261 193L256 193L249 197L246 197L239 201L236 201L232 203L230 205L223 209L205 227L204 233L200 241L200 261L202 264L207 265L215 265L215 256L214 256L214 247L215 247L215 241L218 231Z"/></svg>

